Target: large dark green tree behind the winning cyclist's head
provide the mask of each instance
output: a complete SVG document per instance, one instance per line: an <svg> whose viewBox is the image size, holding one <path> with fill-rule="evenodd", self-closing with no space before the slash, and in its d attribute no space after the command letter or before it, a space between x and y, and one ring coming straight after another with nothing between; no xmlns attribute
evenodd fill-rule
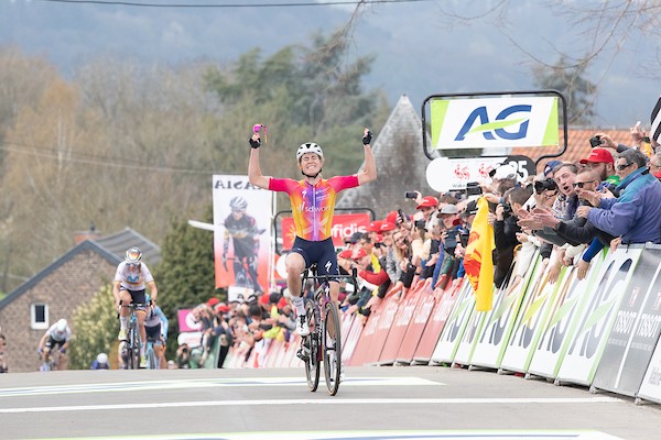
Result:
<svg viewBox="0 0 661 440"><path fill-rule="evenodd" d="M249 128L267 123L264 174L299 175L292 152L308 141L334 157L325 175L355 173L362 161L362 127L378 133L389 111L382 91L365 92L360 86L373 56L347 62L348 47L348 35L337 31L313 36L308 47L286 46L266 59L252 50L227 72L210 69L208 89L224 109L214 142L221 162L247 169Z"/></svg>

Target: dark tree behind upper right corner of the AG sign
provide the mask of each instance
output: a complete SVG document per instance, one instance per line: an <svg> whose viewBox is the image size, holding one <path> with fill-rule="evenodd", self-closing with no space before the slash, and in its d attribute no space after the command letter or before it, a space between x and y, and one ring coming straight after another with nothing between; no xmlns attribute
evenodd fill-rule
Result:
<svg viewBox="0 0 661 440"><path fill-rule="evenodd" d="M586 79L587 63L572 64L565 56L553 66L534 66L533 84L542 89L560 91L567 100L567 123L588 125L595 117L597 86ZM559 111L562 121L562 107Z"/></svg>

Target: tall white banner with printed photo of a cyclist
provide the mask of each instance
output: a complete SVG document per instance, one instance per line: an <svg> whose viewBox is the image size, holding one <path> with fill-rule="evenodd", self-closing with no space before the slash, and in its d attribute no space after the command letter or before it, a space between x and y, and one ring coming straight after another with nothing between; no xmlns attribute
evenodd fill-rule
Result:
<svg viewBox="0 0 661 440"><path fill-rule="evenodd" d="M216 287L227 288L230 301L268 292L273 193L248 176L215 175L213 184Z"/></svg>

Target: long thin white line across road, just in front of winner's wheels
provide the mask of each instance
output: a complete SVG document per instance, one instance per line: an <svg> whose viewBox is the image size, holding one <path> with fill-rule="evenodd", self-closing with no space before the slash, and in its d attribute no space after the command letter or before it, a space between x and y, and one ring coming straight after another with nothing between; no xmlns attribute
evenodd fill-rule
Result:
<svg viewBox="0 0 661 440"><path fill-rule="evenodd" d="M0 408L0 414L23 413L71 413L126 409L184 408L212 406L272 406L272 405L531 405L531 404L608 404L619 402L615 397L578 397L578 398L384 398L384 399L266 399L266 400L202 400L172 402L151 404L118 404L118 405L71 405L25 408Z"/></svg>

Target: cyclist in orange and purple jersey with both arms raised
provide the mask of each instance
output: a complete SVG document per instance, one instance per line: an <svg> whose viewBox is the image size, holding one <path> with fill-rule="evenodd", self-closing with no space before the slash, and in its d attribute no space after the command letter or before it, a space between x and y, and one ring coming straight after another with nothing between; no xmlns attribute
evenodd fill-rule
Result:
<svg viewBox="0 0 661 440"><path fill-rule="evenodd" d="M296 161L303 174L302 180L263 176L259 166L259 132L249 139L250 161L248 177L252 185L272 191L284 191L290 196L296 238L291 252L286 255L286 284L296 309L296 333L302 337L310 334L305 318L305 304L301 298L301 273L316 263L317 275L339 275L335 246L333 245L332 227L335 197L343 189L368 184L377 178L377 166L370 142L371 133L366 128L362 133L365 164L362 170L351 176L335 176L328 179L322 177L324 152L313 142L299 146ZM332 280L330 298L337 305L339 283Z"/></svg>

